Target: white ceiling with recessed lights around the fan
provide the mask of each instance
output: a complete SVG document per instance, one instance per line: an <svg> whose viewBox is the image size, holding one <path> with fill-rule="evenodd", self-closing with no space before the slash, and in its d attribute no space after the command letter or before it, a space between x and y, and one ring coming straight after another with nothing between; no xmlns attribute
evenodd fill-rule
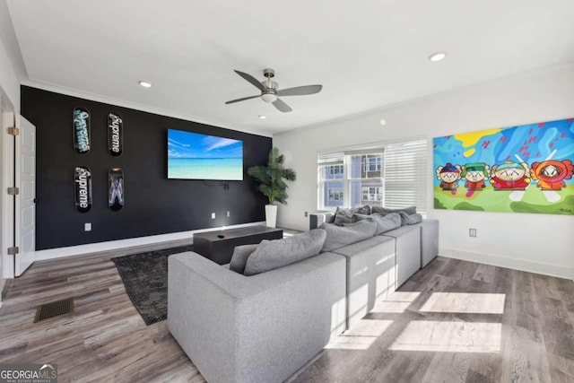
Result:
<svg viewBox="0 0 574 383"><path fill-rule="evenodd" d="M573 0L7 3L22 83L265 135L574 62ZM323 91L284 97L291 113L224 104L258 94L233 69L265 67L280 88Z"/></svg>

